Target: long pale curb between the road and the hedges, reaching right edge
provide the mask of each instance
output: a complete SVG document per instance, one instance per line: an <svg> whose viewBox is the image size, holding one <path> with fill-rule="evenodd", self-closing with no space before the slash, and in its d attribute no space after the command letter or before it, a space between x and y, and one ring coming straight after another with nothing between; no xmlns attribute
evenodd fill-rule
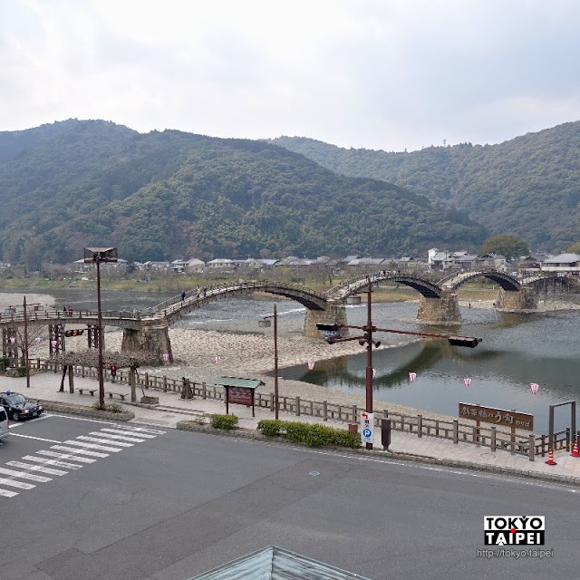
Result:
<svg viewBox="0 0 580 580"><path fill-rule="evenodd" d="M462 461L459 459L436 459L432 457L425 457L421 455L408 455L406 453L393 453L392 451L382 451L379 449L350 449L347 447L308 447L304 443L299 443L296 441L288 441L281 437L266 437L256 430L218 430L210 427L209 425L196 425L191 424L189 421L179 421L176 424L177 430L185 431L197 431L201 433L208 433L208 435L218 435L222 437L237 437L241 439L252 439L258 441L269 441L281 443L283 445L292 445L293 447L304 447L305 449L328 449L337 451L340 450L342 453L355 455L368 455L371 457L381 457L386 459L397 459L401 462L415 462L415 463L425 463L428 465L440 465L441 467L456 468L456 469L468 469L469 471L477 471L478 473L487 472L489 474L495 475L507 475L519 478L534 478L543 481L551 481L553 483L564 483L567 485L572 485L580 488L580 478L574 478L572 476L558 475L541 473L539 471L532 471L529 469L516 469L502 467L498 465L488 465L485 463L477 463L475 461Z"/></svg>

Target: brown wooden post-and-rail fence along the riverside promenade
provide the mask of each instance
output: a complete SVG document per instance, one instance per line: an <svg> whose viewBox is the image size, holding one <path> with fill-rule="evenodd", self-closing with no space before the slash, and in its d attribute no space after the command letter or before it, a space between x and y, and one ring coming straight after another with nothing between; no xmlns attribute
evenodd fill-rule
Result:
<svg viewBox="0 0 580 580"><path fill-rule="evenodd" d="M33 359L30 361L31 368L48 372L62 371L62 365L51 361L41 361ZM94 367L73 366L75 376L98 380L98 372ZM103 376L106 381L113 382L111 371L103 369ZM114 382L129 385L130 372L118 370ZM189 382L189 389L184 389L186 382ZM208 385L205 382L192 382L188 378L171 379L165 375L158 376L149 372L138 372L136 375L136 386L143 390L173 392L184 396L191 393L191 398L195 399L215 399L223 401L225 389L219 385ZM319 417L322 420L338 420L346 423L358 424L361 409L356 405L338 405L328 401L308 401L300 397L278 397L280 411L292 413L296 417L301 415ZM256 407L274 411L274 393L256 392ZM534 461L536 456L545 457L548 451L548 436L527 434L523 431L512 433L508 430L500 430L491 425L489 427L477 426L475 422L459 422L459 420L437 420L423 417L422 415L404 415L392 413L387 409L374 411L375 427L381 428L381 420L390 419L391 429L408 433L416 433L418 437L437 437L440 439L452 440L453 443L471 443L482 447L488 447L491 451L507 450L516 455L524 455L530 461ZM575 433L575 437L580 440L580 430ZM569 429L554 433L554 449L570 450L573 442L573 435Z"/></svg>

